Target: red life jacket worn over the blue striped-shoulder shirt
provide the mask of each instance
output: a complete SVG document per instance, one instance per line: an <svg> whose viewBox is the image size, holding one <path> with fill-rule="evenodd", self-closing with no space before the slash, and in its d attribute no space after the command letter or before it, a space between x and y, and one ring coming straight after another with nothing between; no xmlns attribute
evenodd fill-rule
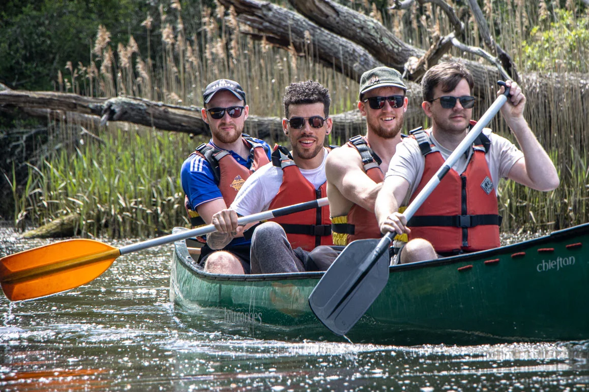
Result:
<svg viewBox="0 0 589 392"><path fill-rule="evenodd" d="M266 155L266 147L262 143L256 142L252 136L247 133L241 134L241 141L250 149L250 158L252 158L252 167L247 169L245 166L240 165L237 160L231 156L231 153L227 150L221 150L216 148L209 143L203 143L196 148L196 150L190 155L199 155L209 162L211 170L213 170L213 177L225 205L230 206L233 200L237 196L237 192L241 189L241 186L246 182L254 171L269 163L268 156ZM188 203L188 196L184 198L184 206L190 217L190 223L193 227L202 226L205 224L204 220L195 210L190 209Z"/></svg>

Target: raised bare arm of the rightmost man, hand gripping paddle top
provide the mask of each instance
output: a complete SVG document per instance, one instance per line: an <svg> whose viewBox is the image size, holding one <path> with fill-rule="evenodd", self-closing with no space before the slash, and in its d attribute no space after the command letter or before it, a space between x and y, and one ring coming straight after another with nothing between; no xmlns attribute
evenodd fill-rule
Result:
<svg viewBox="0 0 589 392"><path fill-rule="evenodd" d="M508 81L507 84L511 84L511 91L508 102L501 108L501 113L524 153L524 158L519 159L509 170L508 178L536 190L555 189L560 180L554 163L538 143L523 116L525 96L517 83ZM498 94L503 91L505 89L501 87Z"/></svg>

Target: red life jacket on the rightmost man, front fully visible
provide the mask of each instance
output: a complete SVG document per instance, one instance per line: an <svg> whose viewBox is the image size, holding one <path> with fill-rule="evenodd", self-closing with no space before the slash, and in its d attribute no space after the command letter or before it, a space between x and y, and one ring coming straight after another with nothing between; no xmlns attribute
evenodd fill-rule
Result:
<svg viewBox="0 0 589 392"><path fill-rule="evenodd" d="M411 202L444 164L442 154L425 130L413 131L412 136L424 155L425 167ZM489 146L489 139L481 133L474 142L465 172L459 175L450 169L409 220L409 240L427 239L444 256L499 246L501 216L485 159Z"/></svg>

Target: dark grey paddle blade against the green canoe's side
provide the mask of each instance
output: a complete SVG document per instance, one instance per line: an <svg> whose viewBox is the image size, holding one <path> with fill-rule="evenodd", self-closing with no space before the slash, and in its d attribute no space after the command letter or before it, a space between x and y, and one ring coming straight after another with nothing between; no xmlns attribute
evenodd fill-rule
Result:
<svg viewBox="0 0 589 392"><path fill-rule="evenodd" d="M388 247L380 255L375 253L379 242L370 239L350 243L309 296L317 319L336 334L348 333L388 282Z"/></svg>

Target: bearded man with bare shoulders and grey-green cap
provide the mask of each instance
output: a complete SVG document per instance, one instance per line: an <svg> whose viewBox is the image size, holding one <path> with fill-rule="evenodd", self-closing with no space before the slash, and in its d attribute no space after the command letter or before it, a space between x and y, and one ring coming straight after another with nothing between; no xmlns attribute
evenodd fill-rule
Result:
<svg viewBox="0 0 589 392"><path fill-rule="evenodd" d="M366 136L354 136L329 154L325 165L333 243L379 238L374 215L383 173L401 142L407 88L395 69L378 67L360 78L358 109L366 116Z"/></svg>

